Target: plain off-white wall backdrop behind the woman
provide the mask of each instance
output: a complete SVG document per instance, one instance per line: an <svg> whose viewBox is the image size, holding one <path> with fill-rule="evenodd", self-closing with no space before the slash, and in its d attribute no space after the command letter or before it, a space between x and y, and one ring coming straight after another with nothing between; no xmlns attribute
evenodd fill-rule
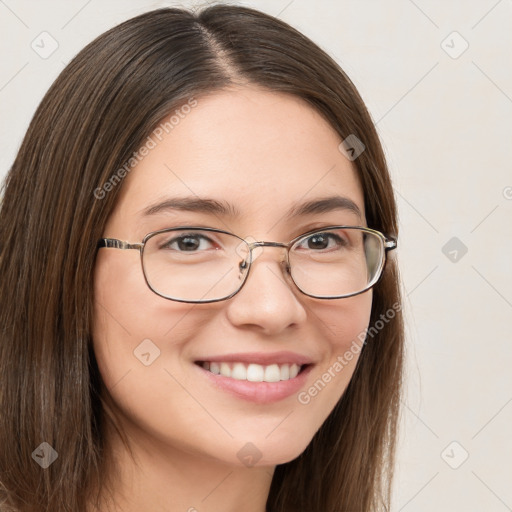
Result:
<svg viewBox="0 0 512 512"><path fill-rule="evenodd" d="M407 322L393 512L512 510L511 0L229 3L326 50L387 153ZM148 10L206 4L0 0L0 178L87 43Z"/></svg>

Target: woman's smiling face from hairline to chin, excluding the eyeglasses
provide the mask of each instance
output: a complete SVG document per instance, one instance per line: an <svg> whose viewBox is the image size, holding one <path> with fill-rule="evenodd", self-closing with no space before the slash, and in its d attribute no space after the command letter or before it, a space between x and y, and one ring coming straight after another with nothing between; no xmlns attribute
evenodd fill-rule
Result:
<svg viewBox="0 0 512 512"><path fill-rule="evenodd" d="M289 242L315 228L366 225L363 191L338 149L341 139L306 103L252 87L196 100L168 133L152 136L148 146L155 147L125 178L105 237L137 243L152 231L202 226ZM346 207L289 214L335 195L355 203L361 216ZM228 208L196 210L195 201L148 212L171 198ZM308 297L286 275L284 255L283 248L260 249L238 294L190 304L149 289L137 250L99 250L95 354L117 413L139 444L268 466L306 448L353 374L357 353L339 361L368 326L372 292ZM241 381L197 364L213 360L230 369L278 364L283 380ZM287 380L283 364L301 361L307 371Z"/></svg>

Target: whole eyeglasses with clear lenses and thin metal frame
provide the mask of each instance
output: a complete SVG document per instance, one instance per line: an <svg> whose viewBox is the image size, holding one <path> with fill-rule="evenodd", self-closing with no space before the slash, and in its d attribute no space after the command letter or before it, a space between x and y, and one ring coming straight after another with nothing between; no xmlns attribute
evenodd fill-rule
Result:
<svg viewBox="0 0 512 512"><path fill-rule="evenodd" d="M286 249L286 273L305 295L341 299L369 290L382 275L396 239L360 226L329 226L284 244L249 242L215 228L176 227L148 233L141 243L102 238L98 248L136 249L149 288L165 299L207 303L238 293L262 247ZM254 253L254 254L253 254Z"/></svg>

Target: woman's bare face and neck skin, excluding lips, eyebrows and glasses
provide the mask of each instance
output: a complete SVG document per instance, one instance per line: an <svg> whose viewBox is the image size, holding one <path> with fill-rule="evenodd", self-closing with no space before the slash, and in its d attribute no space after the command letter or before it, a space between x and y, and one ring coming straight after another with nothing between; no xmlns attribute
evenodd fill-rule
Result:
<svg viewBox="0 0 512 512"><path fill-rule="evenodd" d="M105 237L136 243L151 231L188 224L288 242L327 225L366 225L363 191L338 150L339 135L302 100L254 86L197 100L125 178ZM354 201L362 218L347 210L284 217L292 203L333 191ZM167 197L190 195L229 201L241 215L142 215ZM137 461L108 429L119 510L264 512L275 465L299 456L339 401L357 354L307 405L297 394L252 403L197 377L193 364L204 356L290 350L315 362L307 389L368 326L371 290L308 297L286 278L283 255L265 247L231 299L187 304L148 288L138 251L98 251L94 350ZM161 353L145 366L133 351L148 338ZM237 457L248 442L261 455L252 467Z"/></svg>

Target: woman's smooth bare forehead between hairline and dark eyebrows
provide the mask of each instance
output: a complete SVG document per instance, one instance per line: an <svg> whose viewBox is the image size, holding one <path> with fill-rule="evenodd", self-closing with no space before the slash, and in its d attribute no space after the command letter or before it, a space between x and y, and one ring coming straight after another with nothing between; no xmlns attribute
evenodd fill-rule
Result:
<svg viewBox="0 0 512 512"><path fill-rule="evenodd" d="M340 136L305 101L255 87L195 100L151 135L152 148L125 178L117 206L124 215L140 216L167 197L195 196L275 220L301 199L339 194L364 216L363 191L338 149Z"/></svg>

